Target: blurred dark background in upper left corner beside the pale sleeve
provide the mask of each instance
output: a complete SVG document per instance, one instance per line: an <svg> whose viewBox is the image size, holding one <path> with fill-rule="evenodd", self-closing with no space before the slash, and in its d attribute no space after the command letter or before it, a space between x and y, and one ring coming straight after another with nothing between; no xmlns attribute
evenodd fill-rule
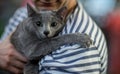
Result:
<svg viewBox="0 0 120 74"><path fill-rule="evenodd" d="M22 0L0 0L0 36L9 18L20 7Z"/></svg>

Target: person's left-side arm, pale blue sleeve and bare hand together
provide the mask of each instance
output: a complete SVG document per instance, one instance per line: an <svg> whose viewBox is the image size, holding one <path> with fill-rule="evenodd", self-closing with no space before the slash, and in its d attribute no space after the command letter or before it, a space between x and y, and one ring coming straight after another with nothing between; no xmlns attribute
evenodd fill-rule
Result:
<svg viewBox="0 0 120 74"><path fill-rule="evenodd" d="M16 26L26 17L23 8L18 9L10 19L0 42L0 68L15 74L22 72L27 59L18 53L10 43L10 34Z"/></svg>

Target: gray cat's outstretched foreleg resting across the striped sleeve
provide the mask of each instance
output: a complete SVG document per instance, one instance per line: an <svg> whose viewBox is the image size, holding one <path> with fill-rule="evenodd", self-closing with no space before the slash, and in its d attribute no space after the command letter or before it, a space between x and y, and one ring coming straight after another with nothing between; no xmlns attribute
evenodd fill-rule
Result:
<svg viewBox="0 0 120 74"><path fill-rule="evenodd" d="M81 47L89 47L92 44L92 40L86 34L74 33L38 41L36 44L32 44L32 47L29 48L30 50L34 49L29 55L29 58L31 60L35 58L41 59L43 56L58 49L60 46L71 43L80 44Z"/></svg>

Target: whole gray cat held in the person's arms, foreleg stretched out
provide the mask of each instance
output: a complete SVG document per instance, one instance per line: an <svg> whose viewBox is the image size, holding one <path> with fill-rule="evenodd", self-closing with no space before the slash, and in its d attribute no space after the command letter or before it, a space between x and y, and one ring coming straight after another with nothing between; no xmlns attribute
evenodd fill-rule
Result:
<svg viewBox="0 0 120 74"><path fill-rule="evenodd" d="M68 34L58 36L65 24L66 7L58 11L41 10L36 12L27 5L28 18L20 23L11 36L16 50L28 58L24 74L38 74L38 62L45 55L65 44L80 44L89 47L92 43L86 34Z"/></svg>

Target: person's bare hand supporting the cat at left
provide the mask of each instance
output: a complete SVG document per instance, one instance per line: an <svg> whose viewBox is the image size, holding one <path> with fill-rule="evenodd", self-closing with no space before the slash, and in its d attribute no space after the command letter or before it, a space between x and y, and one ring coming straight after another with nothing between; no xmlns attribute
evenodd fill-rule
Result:
<svg viewBox="0 0 120 74"><path fill-rule="evenodd" d="M9 39L10 37L0 43L0 68L20 74L27 59L15 50Z"/></svg>

